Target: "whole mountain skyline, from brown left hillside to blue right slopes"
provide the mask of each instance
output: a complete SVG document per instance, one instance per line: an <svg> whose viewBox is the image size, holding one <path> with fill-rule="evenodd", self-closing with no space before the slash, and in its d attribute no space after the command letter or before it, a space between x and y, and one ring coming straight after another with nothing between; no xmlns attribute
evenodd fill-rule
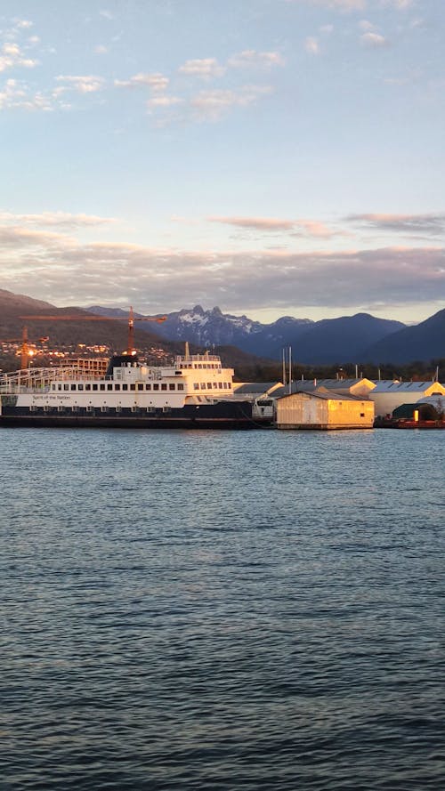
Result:
<svg viewBox="0 0 445 791"><path fill-rule="evenodd" d="M120 321L85 322L92 313ZM20 337L25 323L20 317L27 314L78 315L78 323L49 320L36 323L36 333L50 335L56 343L109 343L112 348L125 348L123 319L128 319L127 311L98 305L87 310L55 308L50 303L3 289L0 289L0 340ZM230 347L230 357L244 354L263 360L279 360L283 349L291 346L295 363L310 366L427 362L445 358L445 310L412 327L400 321L376 319L368 313L320 321L284 316L271 324L262 324L244 315L223 313L219 308L205 311L200 305L169 313L162 324L138 323L137 315L138 345L158 343L172 353L180 348L180 342L189 341L199 347Z"/></svg>

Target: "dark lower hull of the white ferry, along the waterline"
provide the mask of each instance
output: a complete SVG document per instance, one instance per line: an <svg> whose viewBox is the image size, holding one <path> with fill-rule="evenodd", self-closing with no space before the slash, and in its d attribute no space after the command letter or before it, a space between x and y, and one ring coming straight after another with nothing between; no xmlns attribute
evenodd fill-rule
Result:
<svg viewBox="0 0 445 791"><path fill-rule="evenodd" d="M157 409L148 413L141 409L133 412L122 409L117 412L96 410L77 412L57 409L30 412L28 408L4 407L0 416L0 427L29 426L41 428L138 428L138 429L255 429L267 423L252 417L252 405L247 401L217 404L186 405L181 409L164 411Z"/></svg>

